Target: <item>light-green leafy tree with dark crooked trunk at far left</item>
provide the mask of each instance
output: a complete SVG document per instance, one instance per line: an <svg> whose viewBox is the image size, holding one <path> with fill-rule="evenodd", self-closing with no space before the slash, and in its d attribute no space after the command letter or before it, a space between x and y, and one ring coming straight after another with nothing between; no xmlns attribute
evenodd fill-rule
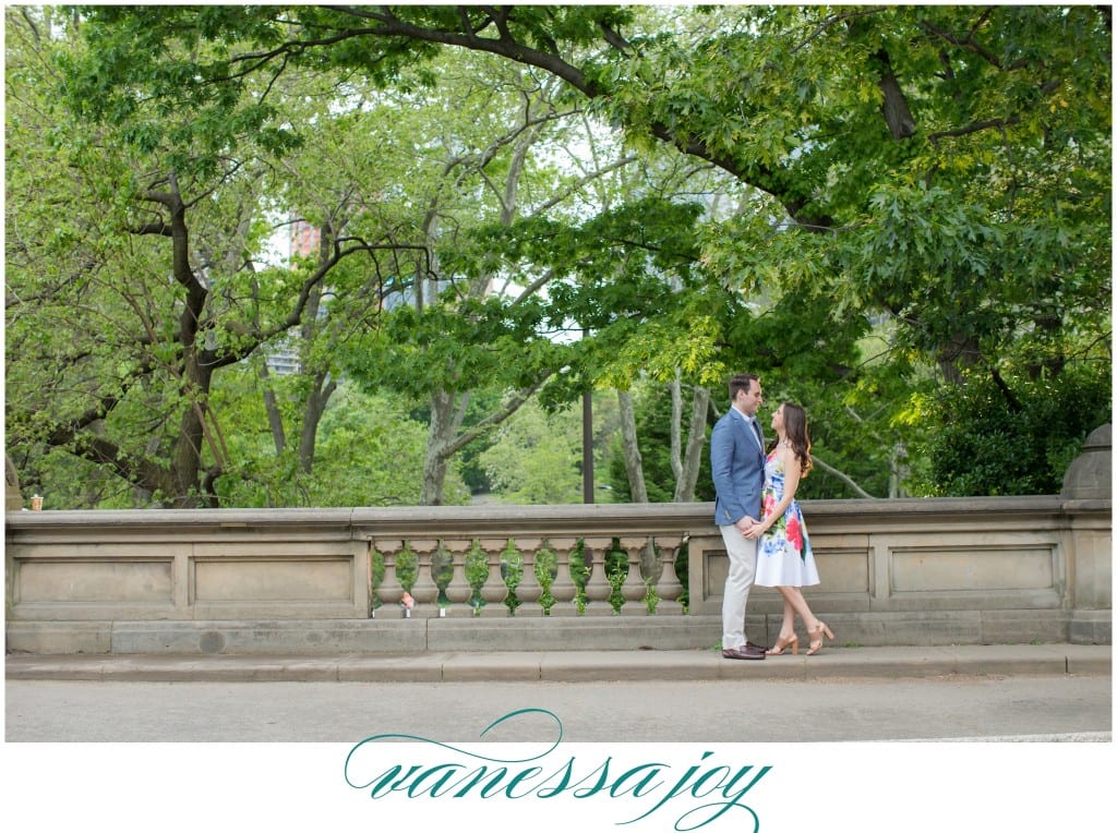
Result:
<svg viewBox="0 0 1117 833"><path fill-rule="evenodd" d="M230 456L214 380L292 328L305 338L325 276L362 247L331 240L289 271L262 262L266 173L296 144L281 131L226 125L235 150L219 154L190 144L192 114L117 102L75 119L52 95L71 80L58 67L83 58L59 28L71 23L6 13L9 443L25 470L51 449L92 462L139 505L213 505L219 478L259 470ZM306 411L312 434L319 414Z"/></svg>

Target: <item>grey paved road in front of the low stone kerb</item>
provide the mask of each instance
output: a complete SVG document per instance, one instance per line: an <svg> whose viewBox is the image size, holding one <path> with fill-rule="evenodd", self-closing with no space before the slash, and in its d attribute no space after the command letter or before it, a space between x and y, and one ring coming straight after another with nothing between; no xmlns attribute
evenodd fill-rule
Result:
<svg viewBox="0 0 1117 833"><path fill-rule="evenodd" d="M815 681L88 682L8 680L8 741L356 743L401 733L477 741L546 709L570 743L1109 740L1111 679L949 676ZM726 715L736 715L726 720ZM497 741L552 739L518 720Z"/></svg>

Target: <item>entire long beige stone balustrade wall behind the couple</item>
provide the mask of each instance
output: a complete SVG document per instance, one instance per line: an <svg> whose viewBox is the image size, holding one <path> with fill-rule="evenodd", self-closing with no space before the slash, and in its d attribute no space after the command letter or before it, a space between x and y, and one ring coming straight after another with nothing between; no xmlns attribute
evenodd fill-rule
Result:
<svg viewBox="0 0 1117 833"><path fill-rule="evenodd" d="M804 501L822 576L808 597L856 644L1108 643L1110 507ZM9 511L8 650L709 647L727 568L712 518L709 504ZM780 612L755 588L750 633Z"/></svg>

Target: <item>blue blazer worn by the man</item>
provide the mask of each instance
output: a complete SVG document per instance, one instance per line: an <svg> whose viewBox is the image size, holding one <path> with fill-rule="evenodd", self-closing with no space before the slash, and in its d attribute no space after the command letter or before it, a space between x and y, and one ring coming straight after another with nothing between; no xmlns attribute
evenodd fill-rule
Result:
<svg viewBox="0 0 1117 833"><path fill-rule="evenodd" d="M735 524L745 515L760 520L764 487L764 451L752 428L735 409L714 425L709 438L709 461L714 470L714 523Z"/></svg>

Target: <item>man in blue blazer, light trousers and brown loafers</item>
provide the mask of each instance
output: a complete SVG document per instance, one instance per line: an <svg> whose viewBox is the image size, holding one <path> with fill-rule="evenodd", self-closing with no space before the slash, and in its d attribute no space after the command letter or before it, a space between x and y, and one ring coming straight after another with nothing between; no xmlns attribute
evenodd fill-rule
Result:
<svg viewBox="0 0 1117 833"><path fill-rule="evenodd" d="M722 600L722 655L728 660L763 660L764 647L745 639L745 605L756 575L756 540L745 533L761 518L764 486L764 434L756 411L763 402L761 381L748 373L729 380L733 406L714 425L709 459L714 469L714 523L729 556Z"/></svg>

